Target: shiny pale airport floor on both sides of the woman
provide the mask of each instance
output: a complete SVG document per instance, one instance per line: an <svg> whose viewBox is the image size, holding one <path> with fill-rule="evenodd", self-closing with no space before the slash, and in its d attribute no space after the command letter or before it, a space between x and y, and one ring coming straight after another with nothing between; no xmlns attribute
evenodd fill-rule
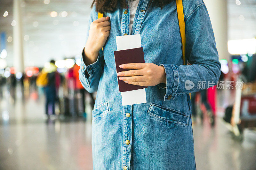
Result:
<svg viewBox="0 0 256 170"><path fill-rule="evenodd" d="M92 169L91 124L77 119L44 119L44 97L35 90L13 93L4 87L0 100L0 169ZM220 93L223 94L223 93ZM218 115L232 102L219 96ZM230 95L230 94L229 94ZM224 97L225 96L225 97ZM218 118L193 125L197 169L256 169L256 133L246 129L234 140Z"/></svg>

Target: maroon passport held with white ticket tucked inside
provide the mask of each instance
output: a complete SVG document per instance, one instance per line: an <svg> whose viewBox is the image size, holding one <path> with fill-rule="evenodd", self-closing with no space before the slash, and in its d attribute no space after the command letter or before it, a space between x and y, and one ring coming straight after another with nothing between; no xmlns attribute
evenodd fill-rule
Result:
<svg viewBox="0 0 256 170"><path fill-rule="evenodd" d="M114 51L114 55L115 55L115 62L116 62L116 73L120 71L135 70L135 69L122 69L119 67L119 65L121 64L145 63L143 47ZM117 80L118 80L119 92L127 92L131 90L147 88L146 86L131 85L128 83L124 83L123 80L119 80L119 76L117 76Z"/></svg>

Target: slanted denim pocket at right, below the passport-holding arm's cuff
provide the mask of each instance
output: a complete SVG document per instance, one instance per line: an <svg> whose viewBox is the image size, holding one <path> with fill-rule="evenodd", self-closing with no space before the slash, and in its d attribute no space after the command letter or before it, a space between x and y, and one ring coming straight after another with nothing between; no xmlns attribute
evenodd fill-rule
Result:
<svg viewBox="0 0 256 170"><path fill-rule="evenodd" d="M148 114L163 122L174 122L181 125L188 125L188 116L165 107L157 106L155 104L150 105Z"/></svg>

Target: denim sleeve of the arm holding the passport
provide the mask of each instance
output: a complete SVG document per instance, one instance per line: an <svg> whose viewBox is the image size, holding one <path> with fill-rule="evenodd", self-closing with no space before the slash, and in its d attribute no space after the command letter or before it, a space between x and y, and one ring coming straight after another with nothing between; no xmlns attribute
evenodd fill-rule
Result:
<svg viewBox="0 0 256 170"><path fill-rule="evenodd" d="M185 18L186 19L186 18ZM185 20L186 59L191 65L161 64L166 73L164 100L200 91L217 84L220 62L208 11L200 4Z"/></svg>

